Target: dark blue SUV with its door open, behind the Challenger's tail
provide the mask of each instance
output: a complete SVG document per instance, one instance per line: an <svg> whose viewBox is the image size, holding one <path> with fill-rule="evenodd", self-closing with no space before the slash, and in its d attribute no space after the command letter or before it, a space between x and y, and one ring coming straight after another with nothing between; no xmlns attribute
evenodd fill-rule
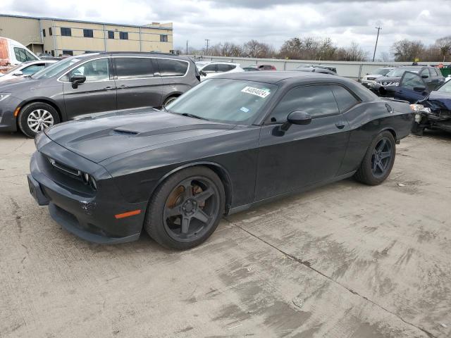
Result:
<svg viewBox="0 0 451 338"><path fill-rule="evenodd" d="M423 78L424 82L426 82L429 90L434 90L445 83L445 77L443 77L440 69L438 68L422 65L405 66L395 68L388 72L386 75L378 77L373 86L373 91L378 93L380 87L397 86L400 83L401 77L405 72L419 74L421 78Z"/></svg>

